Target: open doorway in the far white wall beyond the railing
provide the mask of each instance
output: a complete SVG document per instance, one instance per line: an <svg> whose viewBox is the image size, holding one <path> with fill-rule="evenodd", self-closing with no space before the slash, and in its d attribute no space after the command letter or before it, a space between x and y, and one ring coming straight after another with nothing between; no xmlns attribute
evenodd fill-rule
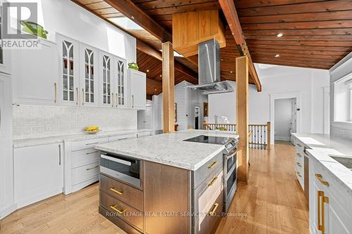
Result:
<svg viewBox="0 0 352 234"><path fill-rule="evenodd" d="M275 141L290 141L296 132L297 100L281 98L275 100Z"/></svg>

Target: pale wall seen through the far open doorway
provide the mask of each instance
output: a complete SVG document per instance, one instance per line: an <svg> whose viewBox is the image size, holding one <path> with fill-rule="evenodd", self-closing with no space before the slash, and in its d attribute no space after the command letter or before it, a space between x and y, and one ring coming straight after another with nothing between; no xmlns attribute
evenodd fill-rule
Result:
<svg viewBox="0 0 352 234"><path fill-rule="evenodd" d="M291 98L275 100L275 140L289 141L292 117Z"/></svg>

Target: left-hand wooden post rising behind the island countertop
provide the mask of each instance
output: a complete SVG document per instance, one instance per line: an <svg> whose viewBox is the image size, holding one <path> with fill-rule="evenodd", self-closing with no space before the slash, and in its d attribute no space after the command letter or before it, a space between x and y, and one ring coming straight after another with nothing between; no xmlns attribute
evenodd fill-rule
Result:
<svg viewBox="0 0 352 234"><path fill-rule="evenodd" d="M163 43L163 132L175 131L174 51L168 41Z"/></svg>

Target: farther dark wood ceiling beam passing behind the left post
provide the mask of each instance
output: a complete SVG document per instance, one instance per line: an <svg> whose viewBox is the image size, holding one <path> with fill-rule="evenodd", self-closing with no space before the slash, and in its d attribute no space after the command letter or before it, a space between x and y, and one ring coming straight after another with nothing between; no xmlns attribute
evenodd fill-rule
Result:
<svg viewBox="0 0 352 234"><path fill-rule="evenodd" d="M142 51L143 53L146 53L147 55L156 58L157 60L163 60L163 56L160 51L157 51L155 48L149 46L148 44L144 43L139 39L137 39L137 50ZM192 84L198 84L198 74L190 70L185 65L175 61L175 70L178 70L179 72L182 72L183 74L187 75L187 82L191 82Z"/></svg>

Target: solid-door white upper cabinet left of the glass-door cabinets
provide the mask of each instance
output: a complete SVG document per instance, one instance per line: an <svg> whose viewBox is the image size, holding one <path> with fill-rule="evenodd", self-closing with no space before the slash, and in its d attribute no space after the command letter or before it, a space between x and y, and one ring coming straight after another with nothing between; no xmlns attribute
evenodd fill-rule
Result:
<svg viewBox="0 0 352 234"><path fill-rule="evenodd" d="M58 98L58 60L54 42L41 39L37 49L13 50L13 102L54 105Z"/></svg>

